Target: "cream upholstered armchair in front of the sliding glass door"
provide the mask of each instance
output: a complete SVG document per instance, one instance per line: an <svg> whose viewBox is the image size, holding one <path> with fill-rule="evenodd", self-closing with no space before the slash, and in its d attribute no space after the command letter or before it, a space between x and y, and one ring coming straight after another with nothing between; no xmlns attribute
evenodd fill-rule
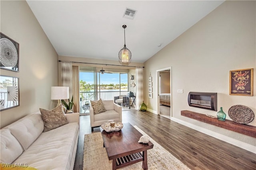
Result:
<svg viewBox="0 0 256 170"><path fill-rule="evenodd" d="M114 120L115 122L122 122L122 106L114 103L114 100L102 100L105 112L94 114L94 110L90 105L90 121L92 132L94 127L99 127L103 123Z"/></svg>

